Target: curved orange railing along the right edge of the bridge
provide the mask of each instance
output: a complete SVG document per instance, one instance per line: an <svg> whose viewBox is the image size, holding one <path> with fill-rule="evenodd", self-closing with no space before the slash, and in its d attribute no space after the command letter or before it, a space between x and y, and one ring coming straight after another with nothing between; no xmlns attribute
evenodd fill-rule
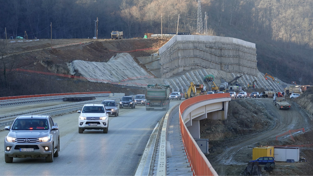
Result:
<svg viewBox="0 0 313 176"><path fill-rule="evenodd" d="M217 93L217 94L208 94L200 95L184 100L179 106L179 125L182 133L182 141L185 147L185 152L187 154L190 166L193 172L193 175L218 175L213 169L212 165L205 157L203 152L198 147L195 140L192 138L192 135L187 130L185 123L182 121L182 113L186 108L192 106L193 104L206 101L208 99L215 98L228 98L230 97L229 93Z"/></svg>

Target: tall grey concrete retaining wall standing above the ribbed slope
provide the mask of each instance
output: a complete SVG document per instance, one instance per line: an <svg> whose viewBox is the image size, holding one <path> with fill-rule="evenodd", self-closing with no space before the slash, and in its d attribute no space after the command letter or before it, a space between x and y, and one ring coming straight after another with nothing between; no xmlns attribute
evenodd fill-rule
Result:
<svg viewBox="0 0 313 176"><path fill-rule="evenodd" d="M176 35L159 49L159 55L162 78L202 68L258 73L255 44L236 38Z"/></svg>

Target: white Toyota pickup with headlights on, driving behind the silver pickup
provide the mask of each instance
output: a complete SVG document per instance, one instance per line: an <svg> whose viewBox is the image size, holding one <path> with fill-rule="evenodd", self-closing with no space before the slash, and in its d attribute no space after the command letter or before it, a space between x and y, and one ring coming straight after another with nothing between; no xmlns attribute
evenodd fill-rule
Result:
<svg viewBox="0 0 313 176"><path fill-rule="evenodd" d="M83 133L85 129L100 129L103 133L108 133L109 115L104 104L85 104L78 118L78 133Z"/></svg>

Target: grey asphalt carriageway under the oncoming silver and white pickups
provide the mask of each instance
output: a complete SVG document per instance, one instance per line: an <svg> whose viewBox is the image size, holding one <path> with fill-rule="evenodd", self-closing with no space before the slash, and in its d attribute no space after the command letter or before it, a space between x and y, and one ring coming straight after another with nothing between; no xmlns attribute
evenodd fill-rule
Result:
<svg viewBox="0 0 313 176"><path fill-rule="evenodd" d="M179 102L171 101L170 107ZM18 110L13 105L7 108ZM79 134L78 113L54 117L60 130L60 153L53 163L46 163L45 158L13 158L13 163L5 163L3 142L8 131L0 131L0 175L134 175L146 143L165 113L146 111L141 105L120 109L118 117L109 117L106 134L102 130Z"/></svg>

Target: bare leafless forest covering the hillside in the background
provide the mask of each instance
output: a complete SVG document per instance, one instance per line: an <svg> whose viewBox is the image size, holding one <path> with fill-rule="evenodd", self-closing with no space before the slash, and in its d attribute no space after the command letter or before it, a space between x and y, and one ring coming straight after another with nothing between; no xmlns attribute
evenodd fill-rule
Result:
<svg viewBox="0 0 313 176"><path fill-rule="evenodd" d="M198 0L10 0L0 1L0 12L0 38L26 32L29 39L92 38L96 28L98 38L115 30L142 38L161 33L161 18L162 33L176 33L178 23L180 32L204 35L197 33L201 17L205 35L256 43L261 72L313 84L309 0L201 0L201 16Z"/></svg>

